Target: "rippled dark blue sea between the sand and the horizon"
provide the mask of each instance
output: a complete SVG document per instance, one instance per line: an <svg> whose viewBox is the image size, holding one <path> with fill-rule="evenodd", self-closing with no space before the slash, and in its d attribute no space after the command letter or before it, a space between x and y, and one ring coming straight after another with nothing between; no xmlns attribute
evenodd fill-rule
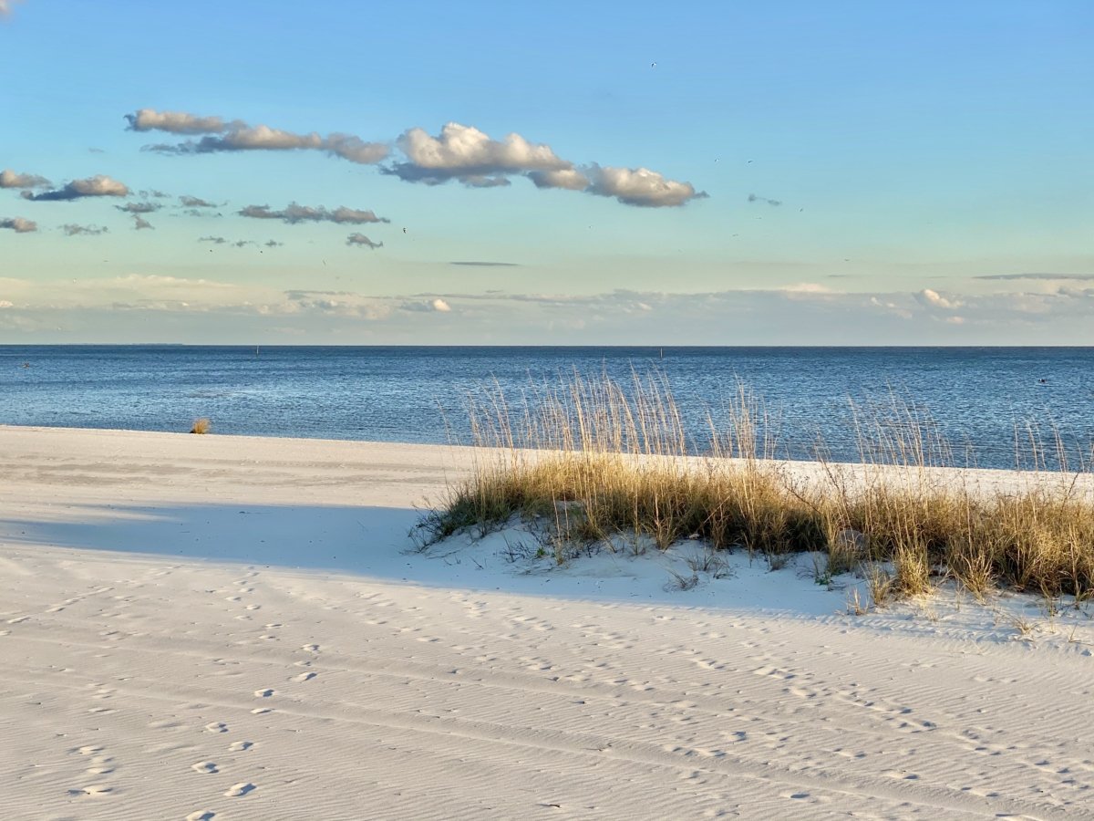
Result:
<svg viewBox="0 0 1094 821"><path fill-rule="evenodd" d="M702 441L740 381L794 459L818 436L856 459L851 403L894 395L929 413L958 463L1014 467L1031 421L1059 431L1072 464L1094 442L1094 348L0 346L0 423L186 431L209 416L220 433L465 441L468 392L497 380L515 395L574 369L660 369Z"/></svg>

